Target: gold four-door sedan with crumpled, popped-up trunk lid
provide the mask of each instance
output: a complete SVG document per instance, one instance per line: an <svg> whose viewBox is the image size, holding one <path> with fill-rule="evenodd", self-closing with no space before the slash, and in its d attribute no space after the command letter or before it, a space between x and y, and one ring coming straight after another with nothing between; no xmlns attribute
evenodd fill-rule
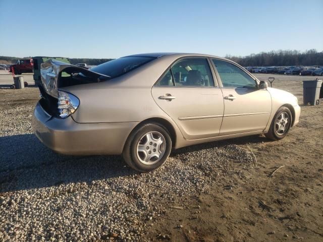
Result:
<svg viewBox="0 0 323 242"><path fill-rule="evenodd" d="M63 154L122 154L143 172L184 146L282 139L300 115L291 93L205 54L137 54L90 70L49 60L39 89L33 128L43 144Z"/></svg>

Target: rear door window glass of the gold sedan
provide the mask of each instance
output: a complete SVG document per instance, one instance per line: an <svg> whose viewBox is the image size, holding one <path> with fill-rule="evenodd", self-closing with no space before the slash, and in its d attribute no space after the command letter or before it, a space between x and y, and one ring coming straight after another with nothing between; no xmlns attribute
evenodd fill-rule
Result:
<svg viewBox="0 0 323 242"><path fill-rule="evenodd" d="M213 87L214 82L207 59L181 59L171 68L175 86Z"/></svg>

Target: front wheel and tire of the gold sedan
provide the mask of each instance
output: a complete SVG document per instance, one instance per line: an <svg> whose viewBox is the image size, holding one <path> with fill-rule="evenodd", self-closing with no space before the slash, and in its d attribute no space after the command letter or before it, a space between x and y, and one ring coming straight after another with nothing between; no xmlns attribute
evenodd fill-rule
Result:
<svg viewBox="0 0 323 242"><path fill-rule="evenodd" d="M292 122L293 122L292 113L289 110L289 108L280 107L277 110L272 120L272 124L271 124L271 127L269 128L268 133L264 135L271 140L281 140L288 134L291 128ZM283 130L283 127L284 127L284 130Z"/></svg>

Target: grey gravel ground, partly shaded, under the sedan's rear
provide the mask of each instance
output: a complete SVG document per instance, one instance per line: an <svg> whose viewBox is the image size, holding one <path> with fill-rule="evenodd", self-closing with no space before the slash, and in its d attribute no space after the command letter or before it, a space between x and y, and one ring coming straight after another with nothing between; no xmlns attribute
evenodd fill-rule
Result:
<svg viewBox="0 0 323 242"><path fill-rule="evenodd" d="M32 134L32 109L0 108L1 241L141 241L165 209L221 177L233 177L232 189L255 165L247 150L218 143L175 151L144 174L119 156L59 155Z"/></svg>

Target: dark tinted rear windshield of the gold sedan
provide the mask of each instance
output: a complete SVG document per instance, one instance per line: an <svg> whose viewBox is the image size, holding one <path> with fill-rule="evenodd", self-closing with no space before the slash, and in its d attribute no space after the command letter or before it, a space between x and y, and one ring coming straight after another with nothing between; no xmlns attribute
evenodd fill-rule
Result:
<svg viewBox="0 0 323 242"><path fill-rule="evenodd" d="M113 61L103 63L90 70L99 74L110 76L112 78L121 76L127 72L130 72L150 61L155 57L146 56L129 56L114 59Z"/></svg>

